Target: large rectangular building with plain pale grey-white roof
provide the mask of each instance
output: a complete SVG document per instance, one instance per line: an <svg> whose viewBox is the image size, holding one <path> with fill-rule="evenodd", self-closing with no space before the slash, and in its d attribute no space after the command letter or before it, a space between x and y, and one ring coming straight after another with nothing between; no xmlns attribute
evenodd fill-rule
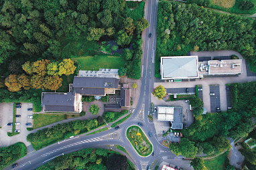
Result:
<svg viewBox="0 0 256 170"><path fill-rule="evenodd" d="M198 78L198 56L161 57L161 79Z"/></svg>

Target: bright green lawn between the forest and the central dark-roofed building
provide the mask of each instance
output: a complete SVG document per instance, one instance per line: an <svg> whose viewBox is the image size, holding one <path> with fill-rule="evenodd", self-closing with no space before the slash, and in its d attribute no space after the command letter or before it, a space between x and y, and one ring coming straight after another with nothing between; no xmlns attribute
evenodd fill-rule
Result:
<svg viewBox="0 0 256 170"><path fill-rule="evenodd" d="M79 64L79 69L98 71L99 69L119 69L125 66L125 59L119 56L97 55L97 57L75 57L72 58Z"/></svg>

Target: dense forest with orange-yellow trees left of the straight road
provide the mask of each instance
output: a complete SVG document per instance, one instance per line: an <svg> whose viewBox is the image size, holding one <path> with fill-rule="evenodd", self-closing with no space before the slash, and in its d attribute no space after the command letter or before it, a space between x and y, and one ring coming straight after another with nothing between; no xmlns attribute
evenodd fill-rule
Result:
<svg viewBox="0 0 256 170"><path fill-rule="evenodd" d="M2 100L17 91L31 92L15 98L23 102L39 99L34 89L66 92L79 67L70 58L107 57L111 53L105 53L103 42L110 40L118 45L112 49L123 51L115 54L125 59L121 75L139 79L141 32L149 25L143 19L144 5L125 0L1 1Z"/></svg>

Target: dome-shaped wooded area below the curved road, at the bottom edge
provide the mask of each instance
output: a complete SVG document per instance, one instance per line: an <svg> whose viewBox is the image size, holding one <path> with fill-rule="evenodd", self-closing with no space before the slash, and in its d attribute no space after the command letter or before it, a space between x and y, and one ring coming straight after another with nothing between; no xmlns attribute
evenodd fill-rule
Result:
<svg viewBox="0 0 256 170"><path fill-rule="evenodd" d="M37 170L86 169L86 170L133 170L131 162L115 151L100 148L86 148L74 153L56 157Z"/></svg>

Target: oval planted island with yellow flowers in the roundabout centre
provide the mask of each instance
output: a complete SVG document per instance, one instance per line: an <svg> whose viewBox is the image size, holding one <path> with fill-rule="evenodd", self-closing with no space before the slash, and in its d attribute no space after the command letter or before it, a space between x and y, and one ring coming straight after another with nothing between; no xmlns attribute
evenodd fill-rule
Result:
<svg viewBox="0 0 256 170"><path fill-rule="evenodd" d="M135 125L131 126L127 129L126 135L139 155L146 157L152 153L153 146L141 128Z"/></svg>

